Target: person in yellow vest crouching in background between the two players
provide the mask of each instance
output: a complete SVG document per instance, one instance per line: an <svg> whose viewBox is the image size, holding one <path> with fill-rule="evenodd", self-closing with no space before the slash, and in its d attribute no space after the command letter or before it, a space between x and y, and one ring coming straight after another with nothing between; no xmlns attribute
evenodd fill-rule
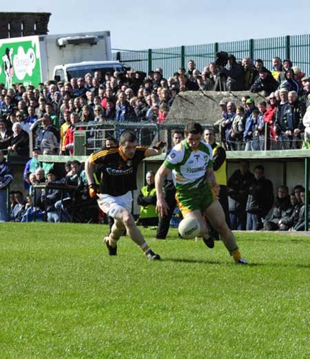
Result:
<svg viewBox="0 0 310 359"><path fill-rule="evenodd" d="M138 224L147 227L149 225L158 225L158 214L156 212L156 189L155 174L152 171L147 172L145 176L147 185L141 188L137 198L138 205L141 205Z"/></svg>

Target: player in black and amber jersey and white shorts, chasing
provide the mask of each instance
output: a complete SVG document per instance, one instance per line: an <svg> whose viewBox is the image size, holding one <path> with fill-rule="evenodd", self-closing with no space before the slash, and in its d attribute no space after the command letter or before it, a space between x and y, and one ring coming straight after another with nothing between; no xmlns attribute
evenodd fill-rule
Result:
<svg viewBox="0 0 310 359"><path fill-rule="evenodd" d="M125 131L121 134L119 147L94 152L85 162L85 172L90 189L90 196L97 197L99 207L114 218L114 225L109 236L104 238L110 256L117 254L117 241L126 230L134 243L148 259L159 260L147 245L143 235L134 223L131 214L132 191L136 189L136 172L143 158L156 156L163 152L165 143L158 142L153 147L137 145L136 135ZM94 167L98 165L100 174L99 192L94 184Z"/></svg>

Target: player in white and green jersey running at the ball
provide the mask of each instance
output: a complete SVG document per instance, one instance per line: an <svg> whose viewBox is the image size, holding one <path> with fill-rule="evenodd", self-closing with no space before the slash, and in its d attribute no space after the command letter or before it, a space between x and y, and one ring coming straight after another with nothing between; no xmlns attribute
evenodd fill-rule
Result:
<svg viewBox="0 0 310 359"><path fill-rule="evenodd" d="M189 122L185 127L185 139L169 152L155 176L158 213L167 213L167 203L163 195L163 181L172 171L176 185L176 201L183 217L191 216L200 223L200 237L206 238L206 216L220 234L229 254L238 264L246 264L241 257L236 238L227 226L223 208L216 198L219 186L213 172L211 146L201 141L203 127Z"/></svg>

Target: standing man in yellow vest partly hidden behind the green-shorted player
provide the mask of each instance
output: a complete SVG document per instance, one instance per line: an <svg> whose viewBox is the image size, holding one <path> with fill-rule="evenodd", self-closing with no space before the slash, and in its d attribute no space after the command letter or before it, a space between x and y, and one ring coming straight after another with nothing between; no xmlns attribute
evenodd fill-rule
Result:
<svg viewBox="0 0 310 359"><path fill-rule="evenodd" d="M203 136L205 142L209 143L209 145L212 147L214 175L216 177L216 183L220 185L218 201L220 202L220 205L222 205L223 207L226 223L230 228L228 196L227 196L226 152L222 146L216 143L216 135L214 128L207 128ZM215 234L212 230L210 232L211 232L211 237L218 238L218 234Z"/></svg>

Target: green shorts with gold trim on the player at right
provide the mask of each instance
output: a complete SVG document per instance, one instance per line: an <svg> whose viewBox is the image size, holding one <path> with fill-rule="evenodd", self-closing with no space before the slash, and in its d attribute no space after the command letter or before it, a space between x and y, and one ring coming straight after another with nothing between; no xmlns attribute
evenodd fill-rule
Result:
<svg viewBox="0 0 310 359"><path fill-rule="evenodd" d="M183 217L197 209L203 213L214 201L216 201L216 195L208 183L199 188L176 189L176 203Z"/></svg>

